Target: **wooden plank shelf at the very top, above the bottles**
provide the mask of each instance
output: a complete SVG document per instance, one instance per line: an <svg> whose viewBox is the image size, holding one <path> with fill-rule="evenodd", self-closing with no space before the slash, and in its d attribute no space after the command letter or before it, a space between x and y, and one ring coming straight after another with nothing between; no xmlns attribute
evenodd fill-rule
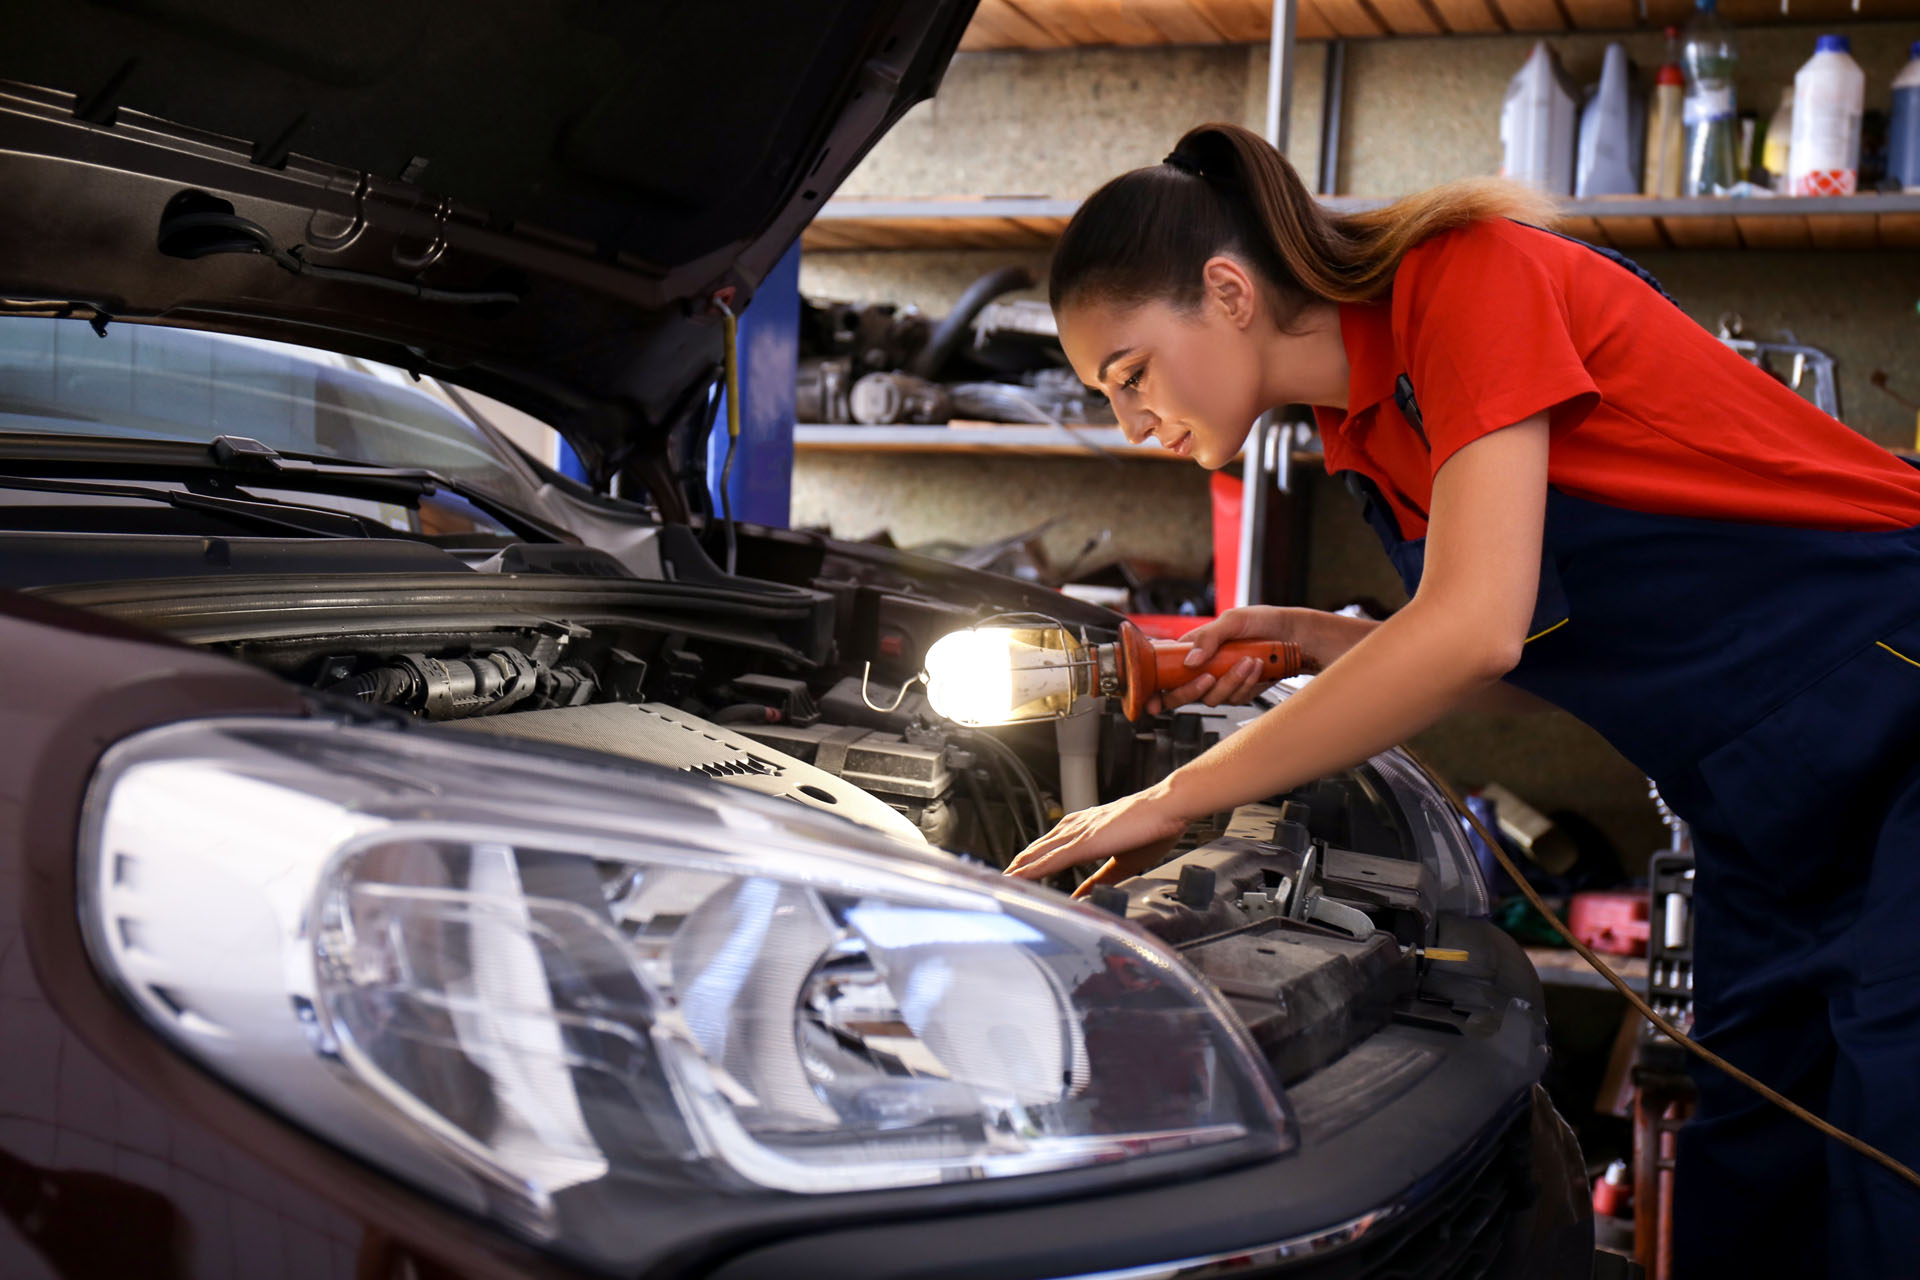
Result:
<svg viewBox="0 0 1920 1280"><path fill-rule="evenodd" d="M1300 40L1659 31L1692 0L1296 0ZM1920 17L1920 0L1720 0L1736 27ZM1267 40L1267 0L981 0L962 50L1058 50L1102 44L1254 44Z"/></svg>

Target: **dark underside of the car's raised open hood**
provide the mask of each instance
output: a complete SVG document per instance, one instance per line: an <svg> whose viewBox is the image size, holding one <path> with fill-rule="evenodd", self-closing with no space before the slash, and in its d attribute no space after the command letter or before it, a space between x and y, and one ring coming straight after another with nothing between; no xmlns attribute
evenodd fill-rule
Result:
<svg viewBox="0 0 1920 1280"><path fill-rule="evenodd" d="M611 476L973 2L8 2L0 309L386 361Z"/></svg>

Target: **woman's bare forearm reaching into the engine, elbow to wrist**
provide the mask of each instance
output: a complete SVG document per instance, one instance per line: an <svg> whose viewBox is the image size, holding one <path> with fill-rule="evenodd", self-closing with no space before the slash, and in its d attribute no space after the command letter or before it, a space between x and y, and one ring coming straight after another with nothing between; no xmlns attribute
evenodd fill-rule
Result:
<svg viewBox="0 0 1920 1280"><path fill-rule="evenodd" d="M1346 649L1306 689L1175 770L1156 791L1215 814L1352 768L1404 743L1513 666L1513 652L1452 610L1419 601L1386 622L1334 618ZM1357 626L1338 626L1357 624Z"/></svg>

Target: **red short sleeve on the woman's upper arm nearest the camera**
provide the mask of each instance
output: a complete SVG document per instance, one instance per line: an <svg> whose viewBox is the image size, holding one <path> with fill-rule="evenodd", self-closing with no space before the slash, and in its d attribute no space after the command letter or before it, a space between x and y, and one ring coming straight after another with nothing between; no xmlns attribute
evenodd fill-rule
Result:
<svg viewBox="0 0 1920 1280"><path fill-rule="evenodd" d="M1551 411L1555 430L1571 428L1599 403L1567 290L1523 234L1511 223L1444 232L1409 249L1394 276L1394 338L1434 472L1503 426Z"/></svg>

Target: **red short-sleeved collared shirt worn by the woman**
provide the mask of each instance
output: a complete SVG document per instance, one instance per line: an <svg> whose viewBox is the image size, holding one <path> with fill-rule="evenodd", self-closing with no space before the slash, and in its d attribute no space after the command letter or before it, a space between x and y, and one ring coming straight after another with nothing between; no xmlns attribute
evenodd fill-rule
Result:
<svg viewBox="0 0 1920 1280"><path fill-rule="evenodd" d="M1432 476L1546 411L1548 482L1649 514L1812 530L1920 526L1920 468L1730 351L1630 271L1509 221L1407 251L1392 294L1342 303L1348 411L1317 409L1329 470L1380 486L1427 533ZM1428 443L1400 415L1413 382Z"/></svg>

